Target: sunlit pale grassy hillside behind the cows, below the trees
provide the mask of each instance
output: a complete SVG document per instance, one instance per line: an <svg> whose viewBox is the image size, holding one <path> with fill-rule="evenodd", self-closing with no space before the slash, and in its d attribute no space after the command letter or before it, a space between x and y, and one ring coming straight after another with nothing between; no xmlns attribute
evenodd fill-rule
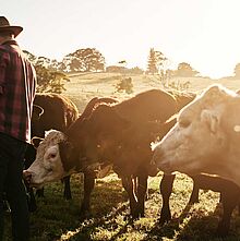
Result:
<svg viewBox="0 0 240 241"><path fill-rule="evenodd" d="M156 75L127 74L125 77L132 77L133 94L116 93L116 84L123 75L118 73L81 73L70 75L70 82L65 84L65 96L70 97L82 111L85 105L93 97L115 97L118 99L129 98L140 92L151 88L160 88L163 85ZM211 84L219 83L233 91L240 88L240 80L220 79L211 80L208 77L175 77L169 84L180 85L189 82L190 92L199 92Z"/></svg>

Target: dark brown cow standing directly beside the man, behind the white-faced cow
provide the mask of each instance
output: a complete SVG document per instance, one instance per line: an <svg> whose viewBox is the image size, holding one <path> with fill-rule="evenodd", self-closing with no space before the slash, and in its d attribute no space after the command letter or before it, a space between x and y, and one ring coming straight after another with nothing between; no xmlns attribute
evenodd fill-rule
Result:
<svg viewBox="0 0 240 241"><path fill-rule="evenodd" d="M59 131L65 131L79 117L79 110L76 106L63 95L55 93L37 93L34 98L34 108L32 117L32 136L41 137L45 136L45 131L56 129ZM35 152L33 145L27 147L25 168L29 167L35 159ZM70 177L63 179L64 193L63 196L70 200ZM38 195L44 195L43 190L37 191ZM29 192L33 198L33 193ZM29 202L32 202L32 198ZM34 203L34 201L33 201ZM34 209L34 208L33 208Z"/></svg>

